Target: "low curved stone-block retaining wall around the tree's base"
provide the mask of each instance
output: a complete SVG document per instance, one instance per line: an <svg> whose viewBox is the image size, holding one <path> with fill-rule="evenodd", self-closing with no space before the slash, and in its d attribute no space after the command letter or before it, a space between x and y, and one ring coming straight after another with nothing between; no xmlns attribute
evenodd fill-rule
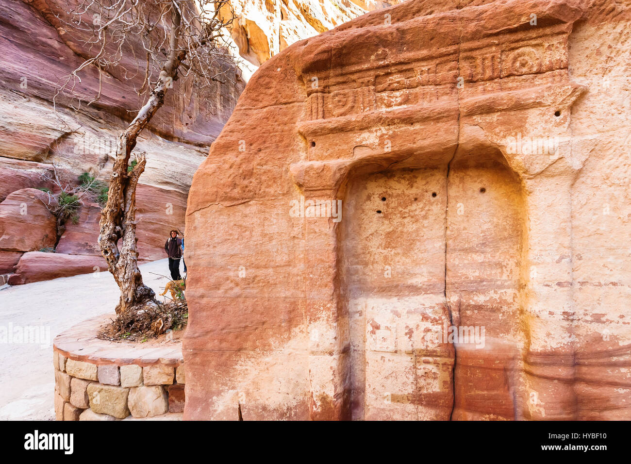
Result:
<svg viewBox="0 0 631 464"><path fill-rule="evenodd" d="M182 343L170 336L144 343L96 338L109 319L89 319L55 338L56 419L181 420Z"/></svg>

